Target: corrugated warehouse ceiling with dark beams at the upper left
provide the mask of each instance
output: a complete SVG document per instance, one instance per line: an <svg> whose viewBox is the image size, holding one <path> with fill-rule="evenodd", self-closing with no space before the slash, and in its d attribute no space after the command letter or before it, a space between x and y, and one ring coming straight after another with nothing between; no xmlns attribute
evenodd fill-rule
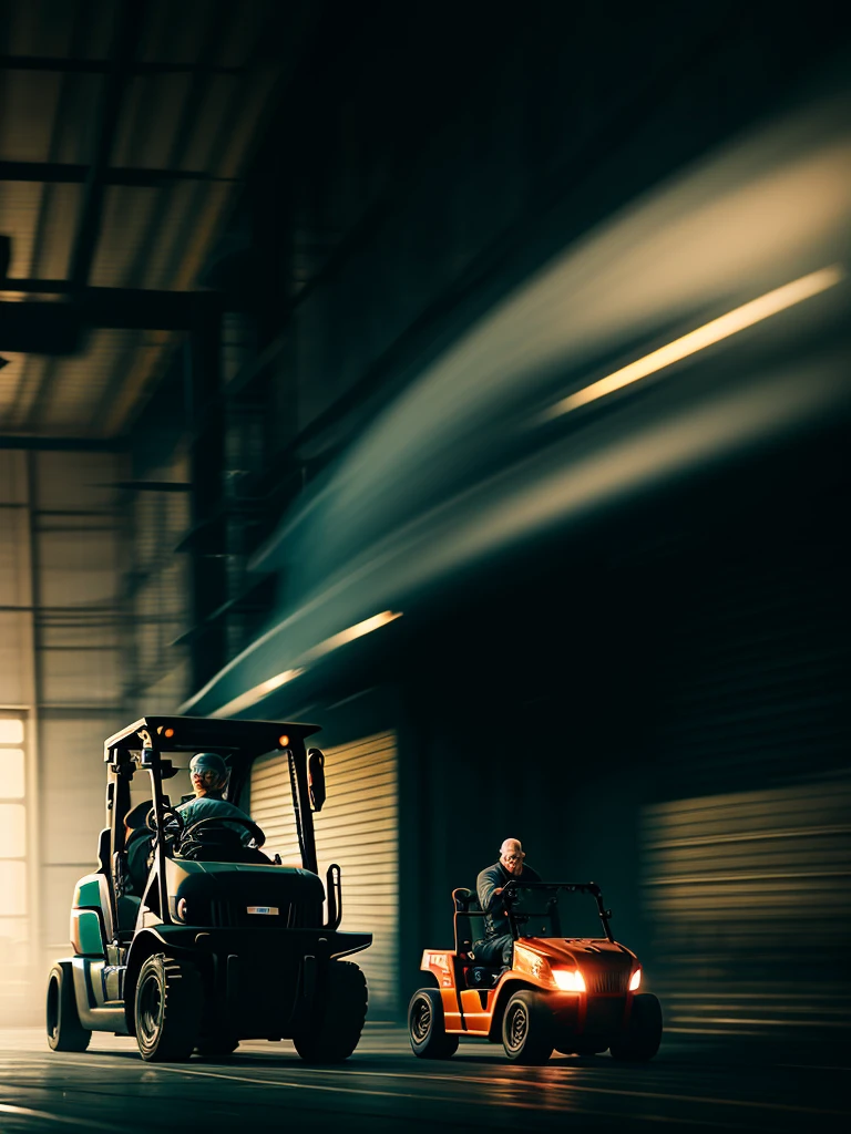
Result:
<svg viewBox="0 0 851 1134"><path fill-rule="evenodd" d="M297 8L0 8L0 443L119 439L218 302L200 276L280 99Z"/></svg>

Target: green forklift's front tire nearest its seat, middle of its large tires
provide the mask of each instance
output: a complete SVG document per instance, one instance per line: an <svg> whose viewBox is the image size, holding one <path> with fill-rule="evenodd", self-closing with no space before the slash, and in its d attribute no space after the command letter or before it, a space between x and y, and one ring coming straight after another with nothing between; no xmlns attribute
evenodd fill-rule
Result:
<svg viewBox="0 0 851 1134"><path fill-rule="evenodd" d="M196 968L155 953L140 970L134 1007L143 1059L183 1063L189 1058L201 1023L202 988Z"/></svg>

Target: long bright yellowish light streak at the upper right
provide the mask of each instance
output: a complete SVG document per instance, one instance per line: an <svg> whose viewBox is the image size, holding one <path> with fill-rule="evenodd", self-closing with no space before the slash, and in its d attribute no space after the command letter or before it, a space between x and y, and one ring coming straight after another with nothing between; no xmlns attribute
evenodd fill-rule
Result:
<svg viewBox="0 0 851 1134"><path fill-rule="evenodd" d="M774 291L768 291L758 299L752 299L750 303L736 307L735 311L730 311L726 315L721 315L721 318L705 323L702 327L697 328L697 330L690 331L679 339L674 339L673 342L668 342L664 347L659 347L658 350L644 355L643 358L637 358L629 366L622 366L621 370L616 370L613 374L608 374L606 378L601 378L597 382L584 387L584 389L568 395L553 406L545 417L557 417L561 414L570 413L571 409L578 409L580 406L588 405L589 401L595 401L607 393L614 393L615 390L623 389L631 382L638 382L649 374L655 374L665 366L671 366L673 363L680 362L682 358L686 358L689 355L696 354L698 350L702 350L714 342L721 342L722 339L730 338L736 331L743 331L745 327L753 327L755 323L768 319L770 315L776 315L795 303L802 303L804 299L809 299L810 296L818 295L819 291L826 291L828 287L834 287L834 285L839 284L844 276L845 271L842 265L834 264L832 268L823 268L820 271L810 272L809 276L803 276L801 279L792 280L791 284L775 288Z"/></svg>

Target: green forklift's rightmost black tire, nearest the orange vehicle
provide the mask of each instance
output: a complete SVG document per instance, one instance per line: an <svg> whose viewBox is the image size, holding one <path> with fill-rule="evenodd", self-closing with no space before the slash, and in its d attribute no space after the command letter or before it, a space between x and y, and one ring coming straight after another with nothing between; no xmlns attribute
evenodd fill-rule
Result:
<svg viewBox="0 0 851 1134"><path fill-rule="evenodd" d="M314 1012L293 1035L306 1063L343 1063L361 1039L366 1018L366 980L351 960L331 960Z"/></svg>

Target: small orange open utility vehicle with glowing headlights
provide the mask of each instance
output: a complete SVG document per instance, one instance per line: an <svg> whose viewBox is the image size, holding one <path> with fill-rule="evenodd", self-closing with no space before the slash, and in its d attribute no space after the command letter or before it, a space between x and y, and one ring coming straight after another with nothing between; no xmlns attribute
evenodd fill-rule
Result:
<svg viewBox="0 0 851 1134"><path fill-rule="evenodd" d="M585 930L592 903L604 937ZM503 900L514 938L509 970L477 963L473 941L485 916L475 896L453 891L455 949L427 949L426 972L438 988L420 989L408 1006L411 1047L421 1059L447 1059L462 1035L502 1040L519 1064L542 1064L553 1050L615 1059L652 1059L662 1040L662 1008L639 992L641 966L609 929L612 911L593 882L520 882ZM583 919L585 924L583 924ZM475 932L473 931L475 926ZM597 930L596 924L592 926Z"/></svg>

